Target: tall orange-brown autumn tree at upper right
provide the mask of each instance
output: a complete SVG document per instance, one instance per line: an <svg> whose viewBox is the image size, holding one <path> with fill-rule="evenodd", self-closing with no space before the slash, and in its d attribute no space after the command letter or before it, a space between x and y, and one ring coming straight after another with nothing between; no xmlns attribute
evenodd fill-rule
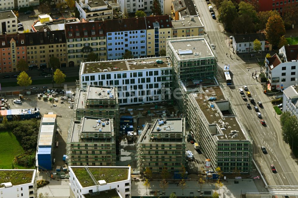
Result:
<svg viewBox="0 0 298 198"><path fill-rule="evenodd" d="M266 38L274 46L277 46L280 37L285 35L285 25L280 14L272 15L266 24Z"/></svg>

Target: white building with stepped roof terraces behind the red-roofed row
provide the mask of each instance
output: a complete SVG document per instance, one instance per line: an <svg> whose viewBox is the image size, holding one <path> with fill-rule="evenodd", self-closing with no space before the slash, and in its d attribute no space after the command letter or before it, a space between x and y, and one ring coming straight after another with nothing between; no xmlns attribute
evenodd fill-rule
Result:
<svg viewBox="0 0 298 198"><path fill-rule="evenodd" d="M75 6L79 10L80 18L87 21L113 18L113 8L104 0L79 0L75 1Z"/></svg>

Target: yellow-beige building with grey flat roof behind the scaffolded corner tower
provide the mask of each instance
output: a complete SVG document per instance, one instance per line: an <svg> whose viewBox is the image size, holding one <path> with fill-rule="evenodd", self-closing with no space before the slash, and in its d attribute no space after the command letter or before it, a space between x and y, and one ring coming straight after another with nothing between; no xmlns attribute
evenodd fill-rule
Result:
<svg viewBox="0 0 298 198"><path fill-rule="evenodd" d="M204 25L198 16L184 16L181 20L172 21L173 37L203 36Z"/></svg>

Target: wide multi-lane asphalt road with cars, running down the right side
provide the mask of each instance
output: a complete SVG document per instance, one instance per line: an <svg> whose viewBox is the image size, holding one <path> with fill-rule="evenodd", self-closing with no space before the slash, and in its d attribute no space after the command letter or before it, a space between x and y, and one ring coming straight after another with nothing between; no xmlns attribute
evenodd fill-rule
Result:
<svg viewBox="0 0 298 198"><path fill-rule="evenodd" d="M257 76L260 73L260 67L256 64L260 60L260 54L256 54L257 57L253 59L248 59L248 54L236 56L232 48L229 49L230 35L226 34L222 26L212 19L206 1L194 0L194 2L204 24L205 32L208 34L211 43L214 43L216 47L219 66L217 76L223 84L225 84L223 78L224 64L230 65L232 81L235 86L227 87L227 90L237 111L240 113L240 118L250 130L250 135L254 142L254 160L263 171L268 185L297 186L298 172L295 168L297 164L291 159L290 149L282 140L279 119L274 117L273 106L270 103L270 98L263 94L262 85L251 76L252 72L255 71L257 71ZM218 15L216 9L215 15ZM230 55L231 58L229 57ZM266 125L261 125L261 119L257 117L256 111L246 107L246 103L250 102L244 101L238 91L238 88L243 85L248 86L256 102L261 101L263 103L260 113L262 114L261 119L266 120ZM260 150L261 146L267 148L268 154L262 153ZM272 173L270 169L271 164L275 165L277 173Z"/></svg>

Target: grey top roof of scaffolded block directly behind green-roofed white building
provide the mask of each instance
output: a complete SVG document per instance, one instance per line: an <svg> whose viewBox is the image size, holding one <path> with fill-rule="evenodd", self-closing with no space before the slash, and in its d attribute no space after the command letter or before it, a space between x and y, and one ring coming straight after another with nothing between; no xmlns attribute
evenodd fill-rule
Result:
<svg viewBox="0 0 298 198"><path fill-rule="evenodd" d="M112 120L108 118L84 117L82 123L82 133L107 133L111 132ZM114 128L114 127L113 127Z"/></svg>

